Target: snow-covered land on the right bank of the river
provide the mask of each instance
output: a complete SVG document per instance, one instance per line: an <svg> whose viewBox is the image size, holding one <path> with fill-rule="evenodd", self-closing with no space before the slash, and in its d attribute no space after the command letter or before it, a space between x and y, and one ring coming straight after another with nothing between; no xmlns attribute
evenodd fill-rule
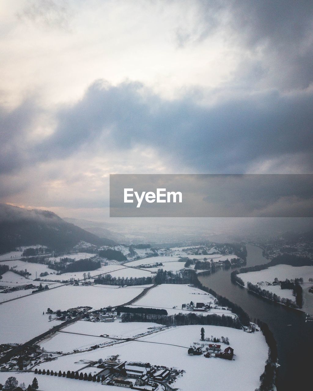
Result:
<svg viewBox="0 0 313 391"><path fill-rule="evenodd" d="M284 281L286 278L288 278L288 280L294 280L295 278L302 277L303 281L307 283L309 282L309 278L313 278L313 266L296 267L290 265L276 265L260 271L240 273L237 274L237 276L243 280L245 286L247 282L251 282L254 285L257 285L258 282L263 282L264 284L260 285L261 289L275 293L281 298L295 301L295 296L293 296L291 289L281 289L279 285L266 285L265 283L272 283L275 277L277 277L279 281Z"/></svg>

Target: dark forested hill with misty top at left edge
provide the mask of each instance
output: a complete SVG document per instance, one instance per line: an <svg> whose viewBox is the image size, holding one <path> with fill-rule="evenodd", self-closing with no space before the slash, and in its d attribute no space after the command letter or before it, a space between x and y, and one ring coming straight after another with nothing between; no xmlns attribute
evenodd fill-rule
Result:
<svg viewBox="0 0 313 391"><path fill-rule="evenodd" d="M53 212L0 204L0 254L33 244L66 250L81 240L95 246L116 244L64 221Z"/></svg>

